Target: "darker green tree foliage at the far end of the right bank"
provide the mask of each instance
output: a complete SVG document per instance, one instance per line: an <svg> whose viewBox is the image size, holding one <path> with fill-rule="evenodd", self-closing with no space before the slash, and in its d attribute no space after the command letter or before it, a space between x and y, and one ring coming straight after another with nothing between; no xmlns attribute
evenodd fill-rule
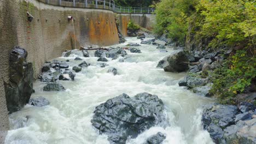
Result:
<svg viewBox="0 0 256 144"><path fill-rule="evenodd" d="M156 34L166 33L168 37L184 43L188 31L188 17L195 11L197 1L162 0L156 4Z"/></svg>

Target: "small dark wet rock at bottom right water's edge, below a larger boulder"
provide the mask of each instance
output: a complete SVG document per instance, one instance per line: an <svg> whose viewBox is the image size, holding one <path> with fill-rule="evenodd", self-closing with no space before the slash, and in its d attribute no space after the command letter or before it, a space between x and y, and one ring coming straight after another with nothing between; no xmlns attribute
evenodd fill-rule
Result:
<svg viewBox="0 0 256 144"><path fill-rule="evenodd" d="M219 128L217 125L211 123L207 127L207 131L215 143L220 143L222 141L224 133L223 130Z"/></svg>

